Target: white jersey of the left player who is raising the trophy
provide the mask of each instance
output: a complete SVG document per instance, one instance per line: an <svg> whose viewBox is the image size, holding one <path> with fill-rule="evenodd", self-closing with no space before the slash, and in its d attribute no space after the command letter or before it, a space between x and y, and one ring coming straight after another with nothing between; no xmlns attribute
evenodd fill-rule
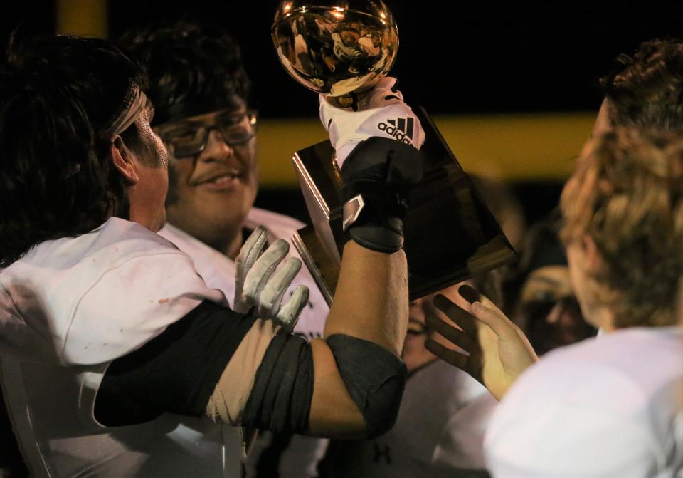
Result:
<svg viewBox="0 0 683 478"><path fill-rule="evenodd" d="M189 256L117 218L0 272L2 389L31 476L221 476L206 457L223 437L208 421L164 414L112 428L93 415L107 365L202 301L228 305Z"/></svg>

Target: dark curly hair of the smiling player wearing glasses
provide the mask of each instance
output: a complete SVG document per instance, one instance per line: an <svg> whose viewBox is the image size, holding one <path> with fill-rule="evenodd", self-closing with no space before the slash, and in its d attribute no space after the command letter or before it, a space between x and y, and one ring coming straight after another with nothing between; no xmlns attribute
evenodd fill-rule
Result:
<svg viewBox="0 0 683 478"><path fill-rule="evenodd" d="M129 31L118 43L147 69L154 125L248 100L240 48L222 29L180 22Z"/></svg>

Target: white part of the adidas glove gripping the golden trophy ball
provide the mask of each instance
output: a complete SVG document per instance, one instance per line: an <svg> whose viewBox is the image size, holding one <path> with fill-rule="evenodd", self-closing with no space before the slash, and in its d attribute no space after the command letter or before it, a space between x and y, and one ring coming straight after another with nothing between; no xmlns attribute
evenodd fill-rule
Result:
<svg viewBox="0 0 683 478"><path fill-rule="evenodd" d="M372 90L358 101L356 111L337 108L320 95L320 120L329 132L329 141L337 152L341 169L349 152L359 142L371 136L391 137L420 149L425 132L403 95L394 88L396 78L379 80Z"/></svg>

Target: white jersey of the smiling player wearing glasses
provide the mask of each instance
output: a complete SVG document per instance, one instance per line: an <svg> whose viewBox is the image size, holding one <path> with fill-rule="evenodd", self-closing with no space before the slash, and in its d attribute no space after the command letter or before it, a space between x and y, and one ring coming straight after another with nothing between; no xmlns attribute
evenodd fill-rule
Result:
<svg viewBox="0 0 683 478"><path fill-rule="evenodd" d="M302 222L282 214L253 207L247 216L245 227L247 229L256 229L260 225L265 226L270 243L275 241L275 239L286 239L290 243L288 256L301 259L297 249L292 244L292 235L297 229L304 227ZM174 227L172 224L166 224L159 231L159 234L169 239L181 251L184 251L192 258L196 270L209 287L219 289L226 297L233 300L235 296L235 261L186 232L181 231L181 229ZM290 289L285 293L285 300L288 296L291 296L298 285L307 286L310 293L308 304L299 316L294 333L304 336L308 341L311 338L322 337L329 306L327 306L327 302L324 300L322 293L315 284L313 276L305 264L303 264L303 261L301 271L297 274L295 280L292 281ZM216 427L221 427L221 425L216 425ZM222 425L222 427L223 435L226 437L227 442L230 444L240 442L238 429L228 425ZM259 439L253 445L253 450L250 452L246 464L248 476L255 476L261 452L270 445L271 440L272 435L267 432L260 434ZM226 443L226 449L223 450L222 459L225 462L225 473L227 477L239 477L240 455L238 447L231 448L231 446ZM290 439L290 445L286 450L282 451L279 457L280 477L305 478L316 476L315 464L322 458L326 448L327 440L293 435ZM220 451L216 450L217 453ZM217 454L213 459L221 460L221 456Z"/></svg>

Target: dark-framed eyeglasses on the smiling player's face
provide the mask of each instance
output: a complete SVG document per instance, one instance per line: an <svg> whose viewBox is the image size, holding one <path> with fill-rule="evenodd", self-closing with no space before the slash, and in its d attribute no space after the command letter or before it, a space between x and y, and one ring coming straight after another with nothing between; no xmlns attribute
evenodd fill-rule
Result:
<svg viewBox="0 0 683 478"><path fill-rule="evenodd" d="M257 123L256 110L240 113L225 110L212 115L208 120L174 121L159 125L154 130L169 146L171 155L180 158L194 157L205 150L212 130L218 131L228 146L243 145L256 135Z"/></svg>

